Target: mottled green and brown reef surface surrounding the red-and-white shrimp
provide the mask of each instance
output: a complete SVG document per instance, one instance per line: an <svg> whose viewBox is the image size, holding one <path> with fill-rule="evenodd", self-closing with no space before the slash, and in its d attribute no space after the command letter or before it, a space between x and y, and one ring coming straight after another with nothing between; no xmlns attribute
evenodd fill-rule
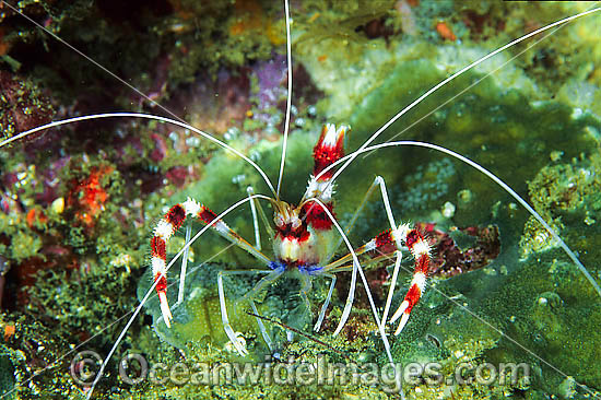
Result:
<svg viewBox="0 0 601 400"><path fill-rule="evenodd" d="M596 5L292 1L293 111L282 198L300 199L322 123L352 127L349 153L455 71ZM427 97L376 142L435 143L482 164L545 219L599 283L600 35L597 12L525 40ZM1 140L80 115L157 114L223 140L275 183L285 39L280 1L1 2ZM397 146L357 157L337 179L343 226L377 175L386 179L397 221L415 224L434 246L427 291L402 334L389 327L394 362L417 368L405 376L406 398L601 397L600 294L542 225L474 168L436 151ZM244 199L249 185L270 195L240 158L189 130L142 119L76 122L0 148L1 398L83 399L98 368L96 354L107 355L152 284L156 222L187 197L220 213ZM266 207L268 219L270 212ZM224 220L254 237L248 205ZM374 196L351 243L358 247L386 228ZM184 243L180 233L167 251L175 255ZM225 244L209 232L191 247L185 301L174 309L172 328L160 320L152 296L93 398L400 398L390 390L393 383L369 370L388 361L362 284L349 322L332 337L350 272L338 275L319 333L311 331L295 282L262 291L256 302L272 351L248 305L236 302L257 280L225 280L232 326L250 353L239 357L223 331L216 277L264 267ZM264 233L262 245L271 255ZM390 264L366 270L380 313ZM412 268L406 252L393 309ZM170 304L178 277L176 263ZM328 285L314 282L314 316ZM297 330L292 341L286 326ZM153 369L158 378L133 379L146 370L140 360L160 366ZM227 368L216 366L241 362L260 366L260 379L216 385L202 370L199 380L186 378L185 368L195 365L227 378ZM298 378L299 365L319 363L364 369L355 379L288 379ZM419 370L424 363L436 363L438 375ZM509 363L522 363L528 373L510 379L512 370L499 368ZM283 375L274 378L276 367ZM432 383L434 376L444 379Z"/></svg>

